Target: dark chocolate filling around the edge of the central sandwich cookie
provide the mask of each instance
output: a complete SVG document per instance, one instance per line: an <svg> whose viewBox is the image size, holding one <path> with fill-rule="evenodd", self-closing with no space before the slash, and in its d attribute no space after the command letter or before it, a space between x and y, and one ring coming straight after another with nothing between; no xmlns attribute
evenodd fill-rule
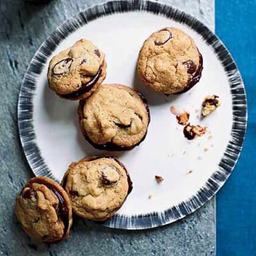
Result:
<svg viewBox="0 0 256 256"><path fill-rule="evenodd" d="M140 91L137 91L137 93L140 96L140 98L142 99L142 101L144 103L144 106L146 107L146 110L148 112L148 118L149 118L148 125L149 125L149 123L151 121L151 117L150 117L148 102L147 102L146 98L144 97L144 95ZM79 107L81 108L81 110L84 109L84 104L85 104L85 100L82 100L82 101L79 102ZM143 140L145 140L146 135L148 133L148 127L147 127L145 135L143 136L143 138L141 138L141 140L137 144L135 144L133 146L129 146L129 147L122 147L122 146L118 146L118 145L116 145L112 142L108 142L108 143L105 143L105 144L96 144L88 137L88 135L87 135L87 133L85 133L83 127L82 127L82 130L83 130L83 133L84 133L84 137L88 141L88 143L90 143L96 149L107 150L107 151L127 151L127 150L130 150L130 149L133 149L135 146L138 146Z"/></svg>

